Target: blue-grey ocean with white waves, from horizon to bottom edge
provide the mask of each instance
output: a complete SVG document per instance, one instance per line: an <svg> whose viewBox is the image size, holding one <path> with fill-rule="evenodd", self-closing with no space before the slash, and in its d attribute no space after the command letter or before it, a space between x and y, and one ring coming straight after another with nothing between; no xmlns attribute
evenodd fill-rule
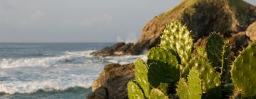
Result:
<svg viewBox="0 0 256 99"><path fill-rule="evenodd" d="M139 56L95 57L114 43L0 43L0 99L85 99L106 64Z"/></svg>

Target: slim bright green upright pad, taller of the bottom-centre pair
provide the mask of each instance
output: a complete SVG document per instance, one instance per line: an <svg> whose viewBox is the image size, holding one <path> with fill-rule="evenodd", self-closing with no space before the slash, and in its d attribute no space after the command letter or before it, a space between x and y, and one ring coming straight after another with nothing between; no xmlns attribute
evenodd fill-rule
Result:
<svg viewBox="0 0 256 99"><path fill-rule="evenodd" d="M189 98L191 99L201 99L202 88L201 88L201 78L196 67L193 67L188 74L188 91Z"/></svg>

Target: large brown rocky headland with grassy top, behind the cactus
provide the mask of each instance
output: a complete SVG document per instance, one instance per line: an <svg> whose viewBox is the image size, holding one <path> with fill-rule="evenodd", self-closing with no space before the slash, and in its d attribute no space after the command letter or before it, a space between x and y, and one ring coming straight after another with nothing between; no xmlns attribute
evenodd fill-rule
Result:
<svg viewBox="0 0 256 99"><path fill-rule="evenodd" d="M172 20L186 24L193 33L194 42L208 36L212 31L230 37L232 34L245 31L248 25L256 21L256 7L242 0L184 0L175 8L161 13L146 23L139 41L135 45L127 45L129 50L115 49L116 45L114 45L92 54L98 56L141 54L144 50L159 45L159 37L166 23Z"/></svg>

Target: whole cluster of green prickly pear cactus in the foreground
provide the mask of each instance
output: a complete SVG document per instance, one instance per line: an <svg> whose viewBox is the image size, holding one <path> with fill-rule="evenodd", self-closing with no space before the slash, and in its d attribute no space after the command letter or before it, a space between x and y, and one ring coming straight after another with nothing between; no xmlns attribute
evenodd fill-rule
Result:
<svg viewBox="0 0 256 99"><path fill-rule="evenodd" d="M210 33L206 47L198 47L193 57L192 51L186 25L167 24L147 62L135 62L135 79L127 85L129 98L256 98L256 42L240 52L232 66L229 42L219 33Z"/></svg>

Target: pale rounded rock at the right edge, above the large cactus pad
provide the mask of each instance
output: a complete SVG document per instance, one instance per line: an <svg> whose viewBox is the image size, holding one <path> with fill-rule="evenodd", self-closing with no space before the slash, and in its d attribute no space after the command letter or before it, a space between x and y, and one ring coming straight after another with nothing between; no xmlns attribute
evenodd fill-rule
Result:
<svg viewBox="0 0 256 99"><path fill-rule="evenodd" d="M247 30L245 31L247 37L250 38L250 40L255 41L256 40L256 22L252 23Z"/></svg>

